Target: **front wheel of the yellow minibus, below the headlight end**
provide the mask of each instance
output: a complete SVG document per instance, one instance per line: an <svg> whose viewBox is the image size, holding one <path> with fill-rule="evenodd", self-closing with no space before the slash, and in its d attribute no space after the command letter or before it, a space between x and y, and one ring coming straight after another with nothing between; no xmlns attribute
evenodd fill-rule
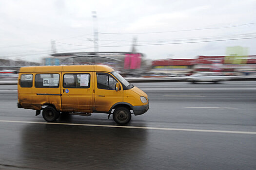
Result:
<svg viewBox="0 0 256 170"><path fill-rule="evenodd" d="M125 107L118 107L113 113L113 119L118 124L126 124L132 118L131 112Z"/></svg>

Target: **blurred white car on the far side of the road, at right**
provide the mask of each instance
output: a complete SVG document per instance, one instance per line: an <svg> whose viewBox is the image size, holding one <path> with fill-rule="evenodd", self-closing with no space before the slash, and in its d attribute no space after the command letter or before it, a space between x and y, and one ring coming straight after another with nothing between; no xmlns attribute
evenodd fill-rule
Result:
<svg viewBox="0 0 256 170"><path fill-rule="evenodd" d="M220 82L228 80L226 76L223 76L219 72L198 72L187 77L187 81L191 83L197 82Z"/></svg>

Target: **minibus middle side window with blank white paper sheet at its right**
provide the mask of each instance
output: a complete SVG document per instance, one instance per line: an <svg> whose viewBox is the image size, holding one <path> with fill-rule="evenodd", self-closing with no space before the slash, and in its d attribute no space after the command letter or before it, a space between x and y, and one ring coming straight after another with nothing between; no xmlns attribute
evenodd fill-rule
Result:
<svg viewBox="0 0 256 170"><path fill-rule="evenodd" d="M90 74L64 74L64 88L89 88Z"/></svg>

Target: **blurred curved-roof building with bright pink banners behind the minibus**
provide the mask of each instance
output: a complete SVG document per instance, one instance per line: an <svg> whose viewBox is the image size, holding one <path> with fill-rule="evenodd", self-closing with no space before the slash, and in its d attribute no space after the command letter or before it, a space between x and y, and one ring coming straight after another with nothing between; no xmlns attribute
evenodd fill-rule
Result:
<svg viewBox="0 0 256 170"><path fill-rule="evenodd" d="M113 67L122 75L141 75L152 68L151 60L140 52L69 52L43 58L43 65L99 64Z"/></svg>

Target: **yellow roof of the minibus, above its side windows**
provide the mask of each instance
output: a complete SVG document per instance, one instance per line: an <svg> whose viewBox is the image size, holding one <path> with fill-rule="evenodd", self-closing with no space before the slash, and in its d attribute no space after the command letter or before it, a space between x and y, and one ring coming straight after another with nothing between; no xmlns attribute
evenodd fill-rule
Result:
<svg viewBox="0 0 256 170"><path fill-rule="evenodd" d="M72 66L33 66L22 67L20 72L82 72L82 71L104 71L112 72L113 68L104 65L72 65Z"/></svg>

